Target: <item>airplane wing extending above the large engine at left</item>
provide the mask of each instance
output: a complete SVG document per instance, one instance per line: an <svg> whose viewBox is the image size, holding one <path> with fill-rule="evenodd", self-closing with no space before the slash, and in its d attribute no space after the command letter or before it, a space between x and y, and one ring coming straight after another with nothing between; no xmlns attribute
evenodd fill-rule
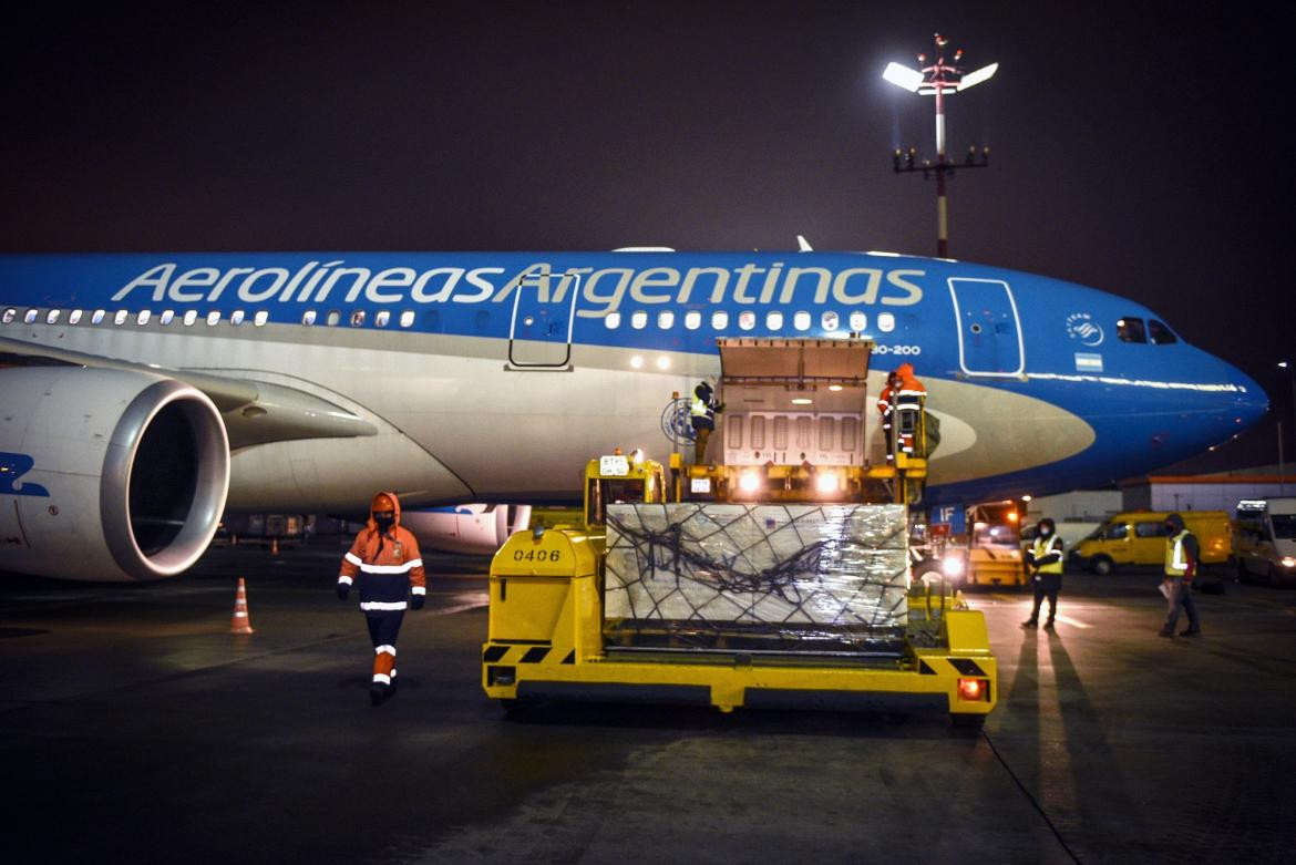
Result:
<svg viewBox="0 0 1296 865"><path fill-rule="evenodd" d="M229 449L292 439L377 435L377 427L314 394L249 378L167 369L53 346L0 338L0 366L70 365L117 369L174 378L202 391L226 423Z"/></svg>

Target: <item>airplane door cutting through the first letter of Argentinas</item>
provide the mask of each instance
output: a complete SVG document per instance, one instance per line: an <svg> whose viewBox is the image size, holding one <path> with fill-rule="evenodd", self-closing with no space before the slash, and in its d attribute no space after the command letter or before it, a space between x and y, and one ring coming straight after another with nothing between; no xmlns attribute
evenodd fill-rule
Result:
<svg viewBox="0 0 1296 865"><path fill-rule="evenodd" d="M508 363L518 369L572 369L572 331L581 277L529 273L513 290Z"/></svg>

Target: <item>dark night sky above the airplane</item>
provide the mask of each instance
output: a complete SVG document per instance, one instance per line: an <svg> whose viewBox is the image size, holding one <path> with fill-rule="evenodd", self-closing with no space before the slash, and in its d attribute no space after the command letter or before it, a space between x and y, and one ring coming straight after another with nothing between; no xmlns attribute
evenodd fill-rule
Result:
<svg viewBox="0 0 1296 865"><path fill-rule="evenodd" d="M1296 458L1296 4L205 4L27 12L0 52L3 251L890 250L1143 302L1270 417L1194 469Z"/></svg>

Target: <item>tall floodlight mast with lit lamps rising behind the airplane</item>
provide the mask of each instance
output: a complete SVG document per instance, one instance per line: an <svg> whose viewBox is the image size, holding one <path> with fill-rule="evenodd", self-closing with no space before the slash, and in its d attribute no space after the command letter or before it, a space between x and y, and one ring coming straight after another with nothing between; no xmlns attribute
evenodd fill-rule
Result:
<svg viewBox="0 0 1296 865"><path fill-rule="evenodd" d="M883 71L884 79L897 87L903 87L910 93L936 97L936 164L933 166L929 161L924 159L921 164L915 166L914 148L910 148L903 154L901 150L897 150L893 164L896 174L921 171L925 179L929 171L936 172L936 254L940 258L949 258L950 253L949 199L945 193L945 175L953 176L955 168L954 163L945 161L945 95L954 95L980 84L999 69L998 63L990 63L989 66L982 66L976 71L964 74L959 67L959 61L963 60L963 49L959 48L955 51L953 61L946 62L946 45L949 45L949 39L941 34L936 34L934 62L931 66L923 66L921 70L916 70L901 63L888 63ZM925 63L927 56L919 54L918 62ZM989 163L990 148L981 148L980 161L977 159L976 148L968 148L967 159L958 167L984 168Z"/></svg>

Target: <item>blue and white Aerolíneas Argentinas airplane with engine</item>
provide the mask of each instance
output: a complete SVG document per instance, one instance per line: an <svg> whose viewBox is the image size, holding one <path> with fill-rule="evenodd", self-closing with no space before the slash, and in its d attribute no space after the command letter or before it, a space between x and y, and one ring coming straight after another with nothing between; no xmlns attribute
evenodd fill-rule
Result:
<svg viewBox="0 0 1296 865"><path fill-rule="evenodd" d="M868 338L940 421L924 505L1061 492L1229 440L1267 396L1146 306L890 253L0 256L0 568L183 572L223 509L561 504L717 338Z"/></svg>

